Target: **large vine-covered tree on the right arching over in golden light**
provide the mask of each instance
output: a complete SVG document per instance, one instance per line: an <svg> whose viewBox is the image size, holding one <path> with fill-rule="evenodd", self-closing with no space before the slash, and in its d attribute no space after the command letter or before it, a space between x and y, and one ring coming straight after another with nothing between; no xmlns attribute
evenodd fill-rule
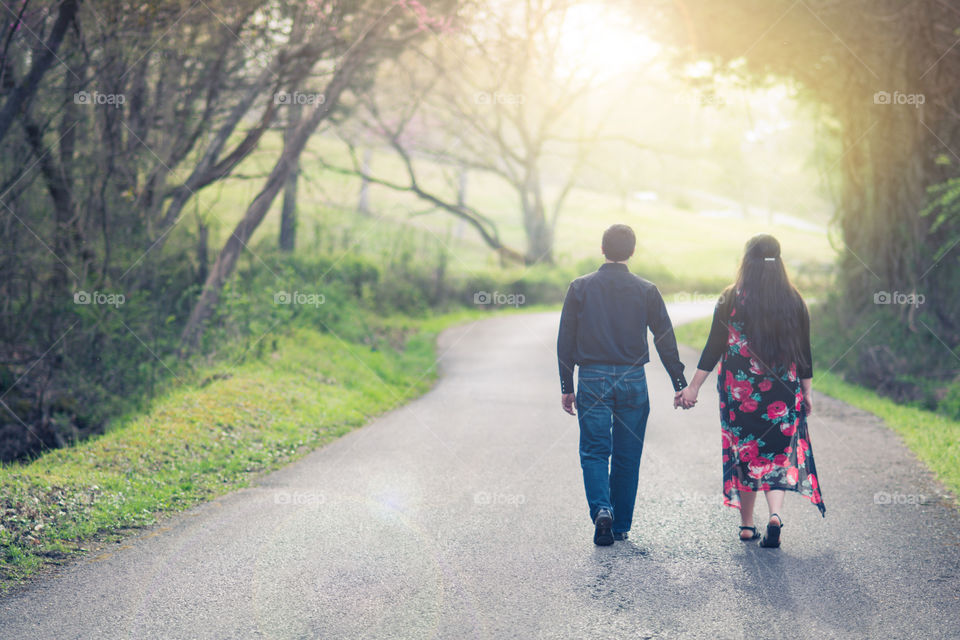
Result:
<svg viewBox="0 0 960 640"><path fill-rule="evenodd" d="M852 369L888 390L912 386L903 382L910 375L953 379L960 261L949 240L957 228L949 181L960 173L960 48L950 25L957 7L935 0L694 0L682 14L636 7L665 38L684 42L689 57L758 83L795 81L822 106L840 143L829 167L841 176L843 245L832 312L856 333L848 336L856 345ZM883 291L923 295L924 303L877 306L874 295ZM877 312L898 322L871 333ZM857 321L865 315L874 319Z"/></svg>

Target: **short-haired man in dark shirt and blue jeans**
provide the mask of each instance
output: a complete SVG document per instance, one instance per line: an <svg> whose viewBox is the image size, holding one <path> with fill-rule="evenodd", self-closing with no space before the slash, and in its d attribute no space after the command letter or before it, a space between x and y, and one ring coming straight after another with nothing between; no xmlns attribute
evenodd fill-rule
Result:
<svg viewBox="0 0 960 640"><path fill-rule="evenodd" d="M650 361L647 327L676 391L674 406L687 386L660 291L627 268L636 244L627 225L615 224L604 232L606 263L570 284L557 338L561 404L570 415L579 414L583 485L595 527L593 541L602 546L626 540L633 521L650 414L643 369ZM576 395L574 365L580 367Z"/></svg>

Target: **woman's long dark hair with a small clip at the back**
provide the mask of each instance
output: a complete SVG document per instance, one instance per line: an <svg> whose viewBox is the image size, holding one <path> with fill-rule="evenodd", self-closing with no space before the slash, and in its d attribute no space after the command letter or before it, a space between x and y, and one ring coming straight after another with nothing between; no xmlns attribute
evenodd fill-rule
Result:
<svg viewBox="0 0 960 640"><path fill-rule="evenodd" d="M734 308L743 310L750 351L764 369L810 364L802 334L809 322L807 305L790 283L776 238L761 233L747 241L733 289Z"/></svg>

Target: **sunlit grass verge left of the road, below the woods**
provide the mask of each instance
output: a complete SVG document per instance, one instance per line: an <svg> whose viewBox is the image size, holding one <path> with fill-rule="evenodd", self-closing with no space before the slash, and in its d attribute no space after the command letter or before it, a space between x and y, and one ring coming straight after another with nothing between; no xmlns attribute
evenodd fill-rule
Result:
<svg viewBox="0 0 960 640"><path fill-rule="evenodd" d="M0 593L424 393L437 334L486 315L390 318L364 344L294 328L262 358L212 367L98 438L0 466Z"/></svg>

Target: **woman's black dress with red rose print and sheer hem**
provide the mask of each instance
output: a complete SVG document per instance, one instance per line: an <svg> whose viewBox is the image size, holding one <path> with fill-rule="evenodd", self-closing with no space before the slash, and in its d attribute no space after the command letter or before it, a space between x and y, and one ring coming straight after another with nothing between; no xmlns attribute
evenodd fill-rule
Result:
<svg viewBox="0 0 960 640"><path fill-rule="evenodd" d="M800 384L800 378L812 377L812 367L798 373L797 364L791 363L775 372L764 371L751 357L743 310L738 318L737 307L717 305L698 365L711 371L720 360L723 502L739 508L741 491L782 489L807 497L824 515ZM809 363L809 318L804 318L803 327Z"/></svg>

